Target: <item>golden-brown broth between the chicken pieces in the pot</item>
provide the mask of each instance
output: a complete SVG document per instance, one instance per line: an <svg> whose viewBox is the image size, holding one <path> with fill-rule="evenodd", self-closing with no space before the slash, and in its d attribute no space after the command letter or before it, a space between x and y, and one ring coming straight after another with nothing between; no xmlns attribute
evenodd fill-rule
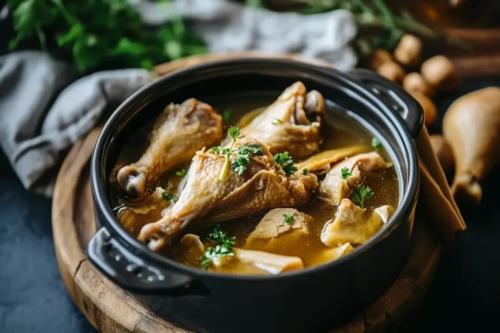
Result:
<svg viewBox="0 0 500 333"><path fill-rule="evenodd" d="M203 101L212 105L219 111L231 108L231 118L226 125L232 125L238 123L241 117L249 111L269 105L274 101L277 95L278 93L231 94L218 96L216 98L205 98ZM333 122L331 118L334 118L335 121ZM370 146L372 137L353 119L329 115L326 120L327 123L322 127L321 135L323 142L321 143L320 151L359 144ZM147 132L149 129L150 126L146 126L132 136L129 142L125 144L124 149L118 157L118 162L114 169L115 172L119 167L134 162L140 157L147 147ZM385 160L389 160L385 152L382 151L379 153ZM169 189L171 193L175 193L179 182L182 180L181 176L176 175L176 171L186 169L188 166L189 163L184 163L168 171L161 177L158 186ZM113 177L111 177L111 180L112 179ZM322 179L322 177L319 177L319 180L320 179ZM375 199L365 201L366 219L369 218L372 211L377 207L383 205L390 205L393 208L397 207L399 201L399 186L394 167L390 167L381 173L369 175L365 178L363 184L370 187L376 196ZM120 200L116 201L116 198L119 197L118 191L113 192L111 197L118 206L121 206L121 208L117 209L118 219L134 237L138 236L143 225L158 221L161 218L161 211L170 205L169 201L163 200L152 204L147 212L136 214L126 209L126 207L132 207L132 205ZM314 219L307 225L309 235L305 240L301 239L301 242L283 244L282 247L275 248L272 252L280 255L300 257L304 266L318 264L314 258L322 251L328 249L328 247L321 242L320 233L326 222L335 218L337 206L319 200L317 195L313 195L307 204L295 208L299 212L310 215ZM235 247L243 248L246 238L255 229L255 226L267 211L263 211L259 215L224 221L220 224L224 227L223 229L228 236L235 236ZM205 247L213 246L213 244L206 241L206 234L211 228L212 227L194 232L196 235L200 236ZM172 241L171 245L165 247L161 253L182 264L199 267L199 256L184 251L179 245L179 239L180 238L177 238Z"/></svg>

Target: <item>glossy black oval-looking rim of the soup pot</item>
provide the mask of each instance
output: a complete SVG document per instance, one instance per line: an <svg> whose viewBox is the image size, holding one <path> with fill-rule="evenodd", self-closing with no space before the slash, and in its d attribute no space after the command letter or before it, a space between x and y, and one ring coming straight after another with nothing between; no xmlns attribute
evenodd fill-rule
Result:
<svg viewBox="0 0 500 333"><path fill-rule="evenodd" d="M107 224L109 224L112 228L112 233L117 234L119 237L117 240L119 242L124 242L126 246L131 246L136 253L140 256L145 256L148 260L150 260L154 265L161 266L162 268L174 269L176 272L181 272L182 274L186 274L192 278L203 278L203 279L229 279L229 280L238 280L244 282L255 282L255 281L277 281L277 280L286 280L292 279L297 275L309 274L313 272L318 272L322 270L331 269L334 266L340 266L344 262L353 260L357 256L362 255L366 251L370 251L374 246L379 244L385 237L387 237L392 230L404 222L404 220L409 216L414 206L416 205L416 197L418 191L419 184L419 167L418 167L418 157L416 152L416 147L411 138L408 129L404 125L403 119L396 113L383 111L385 117L390 120L392 126L395 127L397 133L402 140L402 145L405 147L408 153L408 165L407 167L407 189L403 192L402 198L399 202L398 207L394 211L393 215L387 222L387 224L376 233L368 242L358 246L355 251L348 253L347 255L334 260L329 263L324 263L321 265L306 267L300 271L292 271L287 273L282 273L278 275L231 275L225 273L216 273L216 272L207 272L198 268L190 267L187 265L183 265L178 263L172 259L164 257L158 253L150 250L145 244L139 242L132 235L130 235L125 228L119 223L115 214L113 214L112 208L109 204L109 200L107 199L106 194L106 186L101 186L101 183L106 184L107 181L102 182L101 172L104 161L103 161L103 153L105 145L110 143L109 138L114 133L116 127L119 127L119 124L122 123L123 120L119 121L119 117L121 113L130 109L133 103L138 100L144 99L148 92L154 90L158 86L162 86L167 84L168 81L174 78L182 78L190 74L195 74L197 71L211 69L215 71L215 69L220 69L222 67L224 69L225 66L228 65L243 65L243 64L276 64L276 65L288 65L290 67L295 67L300 69L300 71L313 71L316 75L321 75L323 77L330 76L335 77L335 79L340 80L343 84L347 84L352 88L355 88L360 94L362 94L363 99L365 101L376 103L377 108L380 109L381 105L389 108L386 104L384 104L378 97L376 97L373 93L371 93L367 87L363 86L362 83L358 82L356 79L350 77L348 74L342 73L335 68L331 67L323 67L318 66L311 63L301 62L292 59L283 59L283 58L272 58L272 57L249 57L249 58L236 58L236 59L227 59L227 60L216 60L210 61L203 64L189 66L183 69L179 69L173 71L171 73L165 74L142 88L138 89L134 92L130 97L128 97L123 103L121 103L115 111L109 116L106 120L104 126L102 127L101 132L97 138L95 147L92 152L91 163L90 163L90 181L91 181L91 190L94 199L94 207L96 211L99 211L101 215L105 218ZM224 74L221 74L224 76ZM216 77L216 76L215 76ZM213 78L213 77L212 77ZM154 98L152 99L154 100ZM152 100L148 101L150 103ZM129 117L128 117L129 118ZM392 118L392 119L391 119ZM363 126L364 127L364 126ZM391 147L392 150L395 150L394 147ZM105 176L104 176L105 177ZM402 191L402 190L401 190ZM105 224L102 224L101 227L106 227Z"/></svg>

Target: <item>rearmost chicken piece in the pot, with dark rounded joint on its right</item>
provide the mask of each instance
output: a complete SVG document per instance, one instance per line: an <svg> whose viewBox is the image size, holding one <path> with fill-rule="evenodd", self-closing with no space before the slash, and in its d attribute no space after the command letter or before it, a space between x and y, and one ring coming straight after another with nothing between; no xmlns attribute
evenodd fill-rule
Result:
<svg viewBox="0 0 500 333"><path fill-rule="evenodd" d="M303 83L295 82L241 128L241 133L268 145L272 154L287 151L293 159L301 160L319 149L323 114L323 96L315 90L306 94Z"/></svg>

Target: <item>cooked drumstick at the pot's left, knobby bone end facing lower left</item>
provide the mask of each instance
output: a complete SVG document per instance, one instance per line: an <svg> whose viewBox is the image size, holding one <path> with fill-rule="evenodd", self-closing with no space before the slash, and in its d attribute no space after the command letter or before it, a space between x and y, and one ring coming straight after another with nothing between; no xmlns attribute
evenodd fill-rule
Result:
<svg viewBox="0 0 500 333"><path fill-rule="evenodd" d="M118 171L117 182L127 197L141 198L161 174L220 142L222 135L222 117L210 105L194 98L170 104L153 125L149 147L137 162Z"/></svg>

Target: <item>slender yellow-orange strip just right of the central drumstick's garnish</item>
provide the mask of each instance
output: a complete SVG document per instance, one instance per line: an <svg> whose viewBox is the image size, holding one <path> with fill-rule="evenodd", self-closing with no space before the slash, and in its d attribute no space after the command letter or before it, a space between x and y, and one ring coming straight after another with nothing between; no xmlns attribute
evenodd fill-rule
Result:
<svg viewBox="0 0 500 333"><path fill-rule="evenodd" d="M372 149L373 148L368 146L349 146L325 150L300 163L295 163L295 166L298 170L307 169L307 171L314 172L316 175L322 175L330 171L332 164L347 157L368 152Z"/></svg>

